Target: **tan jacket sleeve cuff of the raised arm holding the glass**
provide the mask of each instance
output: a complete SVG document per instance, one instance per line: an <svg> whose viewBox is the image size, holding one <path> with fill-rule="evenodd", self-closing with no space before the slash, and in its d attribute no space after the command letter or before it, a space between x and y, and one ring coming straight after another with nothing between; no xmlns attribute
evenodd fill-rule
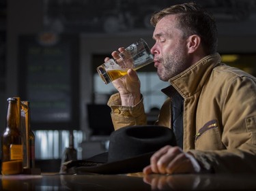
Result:
<svg viewBox="0 0 256 191"><path fill-rule="evenodd" d="M121 105L121 99L119 93L117 93L110 97L107 105L111 107L111 118L115 130L124 126L147 124L143 97L134 107L126 107Z"/></svg>

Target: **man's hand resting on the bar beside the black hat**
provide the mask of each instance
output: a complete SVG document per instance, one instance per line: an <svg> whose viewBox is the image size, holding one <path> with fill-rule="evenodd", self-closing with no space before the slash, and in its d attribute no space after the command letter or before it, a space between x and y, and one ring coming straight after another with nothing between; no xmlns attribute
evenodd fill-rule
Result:
<svg viewBox="0 0 256 191"><path fill-rule="evenodd" d="M201 167L190 154L183 152L180 147L167 145L162 147L150 159L150 166L143 169L143 173L200 173Z"/></svg>

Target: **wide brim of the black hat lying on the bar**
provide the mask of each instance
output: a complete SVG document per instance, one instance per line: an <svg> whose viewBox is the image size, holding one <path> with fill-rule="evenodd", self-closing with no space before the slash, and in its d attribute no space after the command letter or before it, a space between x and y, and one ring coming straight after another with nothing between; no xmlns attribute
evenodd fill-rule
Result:
<svg viewBox="0 0 256 191"><path fill-rule="evenodd" d="M76 160L70 162L66 167L68 171L76 174L124 174L124 173L137 173L143 171L143 168L150 164L150 158L154 152L148 152L115 162L106 161L107 152L98 154L89 160Z"/></svg>

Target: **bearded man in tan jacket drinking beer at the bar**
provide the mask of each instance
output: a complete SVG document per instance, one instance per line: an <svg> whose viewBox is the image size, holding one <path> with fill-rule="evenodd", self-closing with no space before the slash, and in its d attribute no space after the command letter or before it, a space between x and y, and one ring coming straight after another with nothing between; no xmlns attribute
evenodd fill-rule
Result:
<svg viewBox="0 0 256 191"><path fill-rule="evenodd" d="M160 149L143 172L255 173L255 77L221 63L216 23L199 5L173 5L151 22L154 66L171 84L162 90L169 98L156 124L173 128L177 147ZM115 129L146 124L137 73L129 69L113 84L118 93L108 105Z"/></svg>

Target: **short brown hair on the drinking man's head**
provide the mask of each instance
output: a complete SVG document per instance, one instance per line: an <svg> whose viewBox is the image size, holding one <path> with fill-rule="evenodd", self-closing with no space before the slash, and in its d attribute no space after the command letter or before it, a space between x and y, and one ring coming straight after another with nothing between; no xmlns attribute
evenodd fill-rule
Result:
<svg viewBox="0 0 256 191"><path fill-rule="evenodd" d="M150 20L152 26L156 27L160 19L170 14L178 15L177 27L183 31L184 37L199 35L205 53L214 54L216 52L218 31L212 14L203 10L203 8L196 3L173 5L153 14Z"/></svg>

